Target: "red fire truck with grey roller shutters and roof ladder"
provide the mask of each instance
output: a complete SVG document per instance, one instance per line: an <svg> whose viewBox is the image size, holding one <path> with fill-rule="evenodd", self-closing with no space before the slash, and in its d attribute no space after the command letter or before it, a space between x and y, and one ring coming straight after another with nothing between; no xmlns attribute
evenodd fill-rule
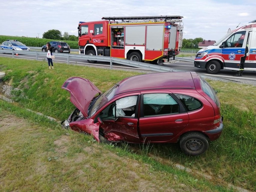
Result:
<svg viewBox="0 0 256 192"><path fill-rule="evenodd" d="M181 16L102 17L79 22L80 54L102 55L160 64L182 46ZM90 63L97 61L88 60Z"/></svg>

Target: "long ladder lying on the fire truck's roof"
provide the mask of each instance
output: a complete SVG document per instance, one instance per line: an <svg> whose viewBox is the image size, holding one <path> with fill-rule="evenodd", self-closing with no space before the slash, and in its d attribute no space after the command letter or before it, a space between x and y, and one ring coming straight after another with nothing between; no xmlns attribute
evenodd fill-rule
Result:
<svg viewBox="0 0 256 192"><path fill-rule="evenodd" d="M142 17L102 17L101 19L105 20L164 20L164 21L172 21L172 22L181 22L181 16L142 16Z"/></svg>

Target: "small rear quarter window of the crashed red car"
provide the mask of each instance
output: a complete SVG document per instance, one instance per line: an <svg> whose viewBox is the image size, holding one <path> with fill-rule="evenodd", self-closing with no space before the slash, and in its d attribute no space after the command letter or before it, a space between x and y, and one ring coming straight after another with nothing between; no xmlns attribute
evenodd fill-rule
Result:
<svg viewBox="0 0 256 192"><path fill-rule="evenodd" d="M175 96L181 101L187 111L194 111L200 109L203 104L196 98L188 95L177 94Z"/></svg>

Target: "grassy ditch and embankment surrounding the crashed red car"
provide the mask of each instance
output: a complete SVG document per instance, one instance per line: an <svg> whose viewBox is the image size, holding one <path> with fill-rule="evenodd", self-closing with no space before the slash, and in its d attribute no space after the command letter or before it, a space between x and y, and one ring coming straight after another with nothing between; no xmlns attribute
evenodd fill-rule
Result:
<svg viewBox="0 0 256 192"><path fill-rule="evenodd" d="M104 92L138 74L54 65L51 70L43 61L0 58L4 81L22 90L13 92L16 104L1 102L1 118L15 114L31 121L24 125L21 119L0 134L0 191L233 191L226 187L229 183L256 190L256 87L209 81L218 90L224 130L205 154L188 157L178 144L98 144L24 110L64 120L75 108L61 89L67 78L88 78ZM1 127L5 124L3 132ZM177 164L192 172L177 169Z"/></svg>

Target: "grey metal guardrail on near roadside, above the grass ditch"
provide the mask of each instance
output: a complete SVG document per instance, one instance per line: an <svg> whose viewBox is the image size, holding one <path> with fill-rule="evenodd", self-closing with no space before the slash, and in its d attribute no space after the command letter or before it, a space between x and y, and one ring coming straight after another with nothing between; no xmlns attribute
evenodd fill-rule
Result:
<svg viewBox="0 0 256 192"><path fill-rule="evenodd" d="M16 50L0 50L0 53L12 53L12 57L16 55L16 53L19 54L29 54L34 55L36 60L39 60L41 58L38 58L38 56L44 56L46 59L46 52L38 52L38 51L16 51ZM78 55L78 54L70 54L70 53L54 53L55 59L56 57L62 57L67 58L67 63L70 64L70 59L80 59L80 60L96 60L96 61L105 61L110 62L110 69L113 69L113 63L121 64L121 65L127 65L132 66L140 69L147 69L151 71L157 71L157 72L181 72L184 70L180 69L174 69L170 67L165 66L159 66L159 65L153 65L149 63L144 62L136 62L136 61L130 61L127 59L118 59L115 57L109 57L109 56L95 56L95 55ZM29 57L31 58L31 57ZM93 65L92 63L89 63L90 65Z"/></svg>

